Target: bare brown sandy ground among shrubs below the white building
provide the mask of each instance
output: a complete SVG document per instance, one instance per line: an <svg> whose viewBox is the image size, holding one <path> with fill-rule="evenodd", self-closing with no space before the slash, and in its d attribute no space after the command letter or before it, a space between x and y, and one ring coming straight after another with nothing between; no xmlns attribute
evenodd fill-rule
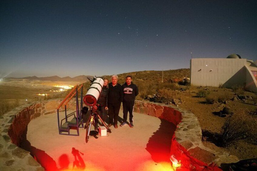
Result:
<svg viewBox="0 0 257 171"><path fill-rule="evenodd" d="M235 96L235 92L233 92L231 89L191 86L190 90L177 92L177 97L181 98L182 100L182 104L179 105L179 107L190 110L192 113L194 113L195 116L198 117L200 126L203 131L220 134L222 133L222 126L229 116L219 117L213 114L213 112L219 112L223 109L224 106L222 106L221 103L206 104L206 100L204 97L196 97L196 93L199 92L199 90L203 90L206 88L210 91L209 96L212 97L219 97L222 96L224 93L228 93L231 98ZM255 96L254 93L250 92L245 92L245 95L249 95L252 97ZM253 100L247 100L247 102L242 102L241 100L229 100L229 104L225 104L225 106L229 107L234 113L253 111L256 110L257 107L254 104ZM209 141L206 141L205 144L206 146L209 146L210 148L215 148L216 150L225 150L231 155L237 156L239 159L249 159L257 157L257 145L247 143L244 140L232 142L232 144L223 148L215 147L215 145Z"/></svg>

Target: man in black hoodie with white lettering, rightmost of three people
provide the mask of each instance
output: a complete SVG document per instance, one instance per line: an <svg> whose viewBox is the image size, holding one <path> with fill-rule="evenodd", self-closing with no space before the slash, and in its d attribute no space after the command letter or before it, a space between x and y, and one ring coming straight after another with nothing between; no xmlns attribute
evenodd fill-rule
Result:
<svg viewBox="0 0 257 171"><path fill-rule="evenodd" d="M133 107L135 104L135 97L138 95L138 88L135 84L132 83L132 77L128 75L126 77L125 84L122 85L122 90L124 93L123 96L123 123L120 125L121 127L127 125L127 117L129 111L129 126L131 128L133 125Z"/></svg>

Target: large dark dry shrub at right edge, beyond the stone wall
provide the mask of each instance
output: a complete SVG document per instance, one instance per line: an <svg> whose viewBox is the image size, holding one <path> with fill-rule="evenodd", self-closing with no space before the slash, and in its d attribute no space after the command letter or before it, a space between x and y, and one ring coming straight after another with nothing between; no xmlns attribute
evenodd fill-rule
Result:
<svg viewBox="0 0 257 171"><path fill-rule="evenodd" d="M223 145L236 140L246 140L249 143L257 144L257 118L247 112L235 113L225 121L222 127Z"/></svg>

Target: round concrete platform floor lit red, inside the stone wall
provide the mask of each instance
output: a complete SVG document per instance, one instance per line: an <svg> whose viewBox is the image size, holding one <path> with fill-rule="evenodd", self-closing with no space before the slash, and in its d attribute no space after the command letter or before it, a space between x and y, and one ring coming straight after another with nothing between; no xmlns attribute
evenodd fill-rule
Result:
<svg viewBox="0 0 257 171"><path fill-rule="evenodd" d="M122 116L120 111L118 129L112 126L108 137L91 136L85 143L83 128L80 136L59 135L57 114L44 115L28 124L22 148L46 170L172 170L169 154L175 125L134 113L134 128L120 127Z"/></svg>

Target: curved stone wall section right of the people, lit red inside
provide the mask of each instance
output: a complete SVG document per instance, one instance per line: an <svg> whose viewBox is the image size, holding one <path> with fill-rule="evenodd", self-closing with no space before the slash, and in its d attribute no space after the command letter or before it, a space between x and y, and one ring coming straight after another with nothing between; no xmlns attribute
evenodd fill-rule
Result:
<svg viewBox="0 0 257 171"><path fill-rule="evenodd" d="M177 126L172 137L170 154L182 164L182 167L193 170L213 169L212 164L237 162L236 156L219 153L202 144L202 130L197 117L174 105L135 101L134 112L165 119ZM171 135L172 136L172 135Z"/></svg>

